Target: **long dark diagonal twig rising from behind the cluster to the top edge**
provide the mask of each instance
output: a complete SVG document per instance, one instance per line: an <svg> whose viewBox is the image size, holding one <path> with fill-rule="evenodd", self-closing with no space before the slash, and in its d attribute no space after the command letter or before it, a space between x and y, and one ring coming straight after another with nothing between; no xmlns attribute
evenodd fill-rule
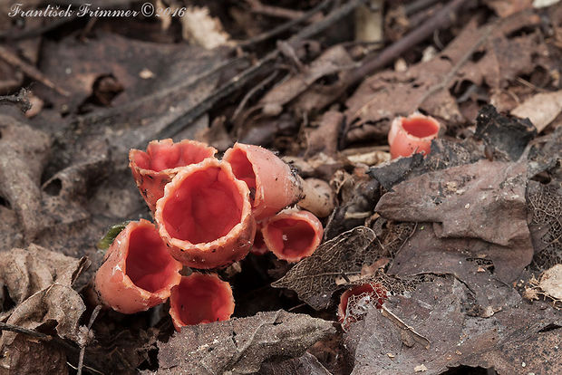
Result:
<svg viewBox="0 0 562 375"><path fill-rule="evenodd" d="M294 45L295 43L308 39L315 34L323 32L332 24L339 21L347 14L353 12L357 6L363 4L365 1L366 0L351 0L349 3L340 6L338 9L326 15L322 21L306 26L298 34L291 37L287 41L287 43L291 43ZM271 63L275 61L278 53L279 53L278 50L267 53L266 56L261 60L259 60L255 65L249 67L246 71L237 74L237 76L230 79L230 81L219 87L217 90L208 94L208 96L205 99L199 101L199 103L189 108L189 110L185 111L183 115L179 116L179 118L177 118L176 120L170 122L170 124L168 124L162 130L160 130L153 137L150 137L150 139L172 138L173 136L178 134L181 130L187 127L191 122L193 122L194 120L199 118L199 116L210 110L213 107L213 105L215 105L218 101L226 99L233 92L237 91L238 89L245 86L248 82L255 79L257 75L259 75L266 67L268 67ZM137 148L139 149L145 148L146 143L147 143L147 139L144 139L142 142L140 142Z"/></svg>

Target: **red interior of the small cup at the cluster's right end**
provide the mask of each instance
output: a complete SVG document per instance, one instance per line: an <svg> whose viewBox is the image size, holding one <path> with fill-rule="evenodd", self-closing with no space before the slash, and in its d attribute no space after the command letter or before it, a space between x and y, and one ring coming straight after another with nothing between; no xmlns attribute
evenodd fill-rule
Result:
<svg viewBox="0 0 562 375"><path fill-rule="evenodd" d="M269 223L267 233L277 251L287 257L302 256L315 241L315 230L304 220L282 218Z"/></svg>

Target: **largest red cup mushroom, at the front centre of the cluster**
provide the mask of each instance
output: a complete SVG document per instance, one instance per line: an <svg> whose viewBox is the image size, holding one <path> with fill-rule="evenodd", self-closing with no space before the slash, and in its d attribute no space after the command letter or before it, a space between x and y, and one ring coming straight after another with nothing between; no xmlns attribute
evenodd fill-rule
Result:
<svg viewBox="0 0 562 375"><path fill-rule="evenodd" d="M217 159L179 171L156 203L154 218L170 254L193 268L222 267L242 259L256 234L246 184Z"/></svg>

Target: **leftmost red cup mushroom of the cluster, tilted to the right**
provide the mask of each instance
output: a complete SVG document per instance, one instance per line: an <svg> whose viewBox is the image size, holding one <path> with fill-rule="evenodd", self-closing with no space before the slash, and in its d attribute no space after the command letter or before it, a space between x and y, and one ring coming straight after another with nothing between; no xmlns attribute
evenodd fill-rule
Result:
<svg viewBox="0 0 562 375"><path fill-rule="evenodd" d="M115 237L94 286L102 303L123 313L142 312L163 303L179 284L182 265L169 253L158 229L141 219Z"/></svg>

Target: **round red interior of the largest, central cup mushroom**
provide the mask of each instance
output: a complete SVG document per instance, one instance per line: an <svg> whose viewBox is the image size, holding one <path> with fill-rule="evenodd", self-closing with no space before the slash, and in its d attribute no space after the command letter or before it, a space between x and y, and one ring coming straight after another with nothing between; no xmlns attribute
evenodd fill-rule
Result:
<svg viewBox="0 0 562 375"><path fill-rule="evenodd" d="M242 220L244 197L222 168L190 173L170 193L164 197L162 221L173 238L209 243L227 236Z"/></svg>

